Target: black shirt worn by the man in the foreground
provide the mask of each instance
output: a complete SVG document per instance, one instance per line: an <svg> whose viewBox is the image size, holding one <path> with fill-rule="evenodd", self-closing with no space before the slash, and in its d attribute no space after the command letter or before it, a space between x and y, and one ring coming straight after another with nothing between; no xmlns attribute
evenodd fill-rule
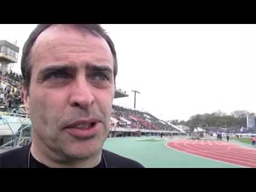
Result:
<svg viewBox="0 0 256 192"><path fill-rule="evenodd" d="M29 158L29 149L31 143L27 146L13 149L0 154L0 168L47 168L44 164L38 162L32 155ZM105 149L102 149L101 162L94 168L144 168L140 163L132 159L122 157Z"/></svg>

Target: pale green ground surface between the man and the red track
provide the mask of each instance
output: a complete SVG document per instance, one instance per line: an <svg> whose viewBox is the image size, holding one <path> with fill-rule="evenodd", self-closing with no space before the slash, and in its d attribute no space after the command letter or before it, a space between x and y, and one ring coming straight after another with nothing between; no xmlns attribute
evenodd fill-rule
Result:
<svg viewBox="0 0 256 192"><path fill-rule="evenodd" d="M175 139L160 137L108 138L103 148L134 159L148 168L238 168L241 166L182 153L166 146ZM157 142L156 142L157 141Z"/></svg>

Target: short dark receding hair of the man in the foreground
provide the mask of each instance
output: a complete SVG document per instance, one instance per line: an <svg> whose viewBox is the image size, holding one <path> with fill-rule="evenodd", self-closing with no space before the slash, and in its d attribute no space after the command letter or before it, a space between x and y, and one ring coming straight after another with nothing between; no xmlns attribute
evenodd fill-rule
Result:
<svg viewBox="0 0 256 192"><path fill-rule="evenodd" d="M77 30L87 31L95 36L101 36L108 43L111 53L114 58L114 79L116 79L117 75L117 58L116 58L116 50L114 43L106 33L105 29L103 29L99 24L38 24L36 28L29 35L25 45L22 50L21 57L21 73L23 77L23 85L29 87L30 85L30 77L32 71L32 63L31 63L31 48L33 47L37 37L46 29L54 25L69 25Z"/></svg>

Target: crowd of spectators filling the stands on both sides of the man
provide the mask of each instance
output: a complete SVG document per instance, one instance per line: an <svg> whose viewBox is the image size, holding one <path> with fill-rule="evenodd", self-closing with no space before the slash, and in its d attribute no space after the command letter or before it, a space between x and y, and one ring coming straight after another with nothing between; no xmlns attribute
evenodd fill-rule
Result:
<svg viewBox="0 0 256 192"><path fill-rule="evenodd" d="M13 71L5 74L2 74L2 71L0 71L0 79L5 84L5 86L0 86L0 107L2 106L0 110L11 111L13 108L23 105L21 91L22 76ZM117 122L111 122L111 127L177 131L171 125L166 124L145 111L113 105L112 117Z"/></svg>

